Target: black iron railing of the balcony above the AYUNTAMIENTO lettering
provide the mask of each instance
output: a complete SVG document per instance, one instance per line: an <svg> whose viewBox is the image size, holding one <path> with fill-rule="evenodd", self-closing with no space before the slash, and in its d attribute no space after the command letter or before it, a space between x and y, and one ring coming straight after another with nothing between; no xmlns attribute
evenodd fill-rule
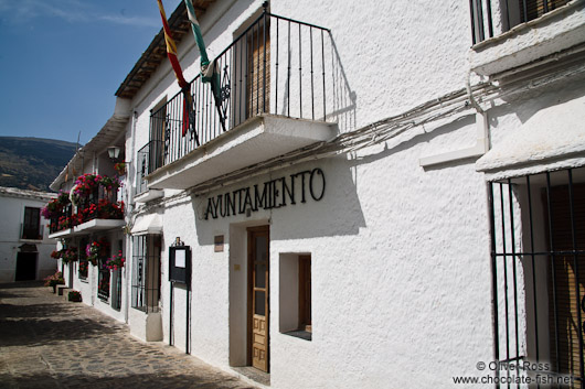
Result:
<svg viewBox="0 0 585 389"><path fill-rule="evenodd" d="M198 75L189 85L192 105L185 109L180 91L151 112L149 158L160 161L152 168L262 114L325 121L332 83L328 40L325 28L264 12L215 58L216 94Z"/></svg>

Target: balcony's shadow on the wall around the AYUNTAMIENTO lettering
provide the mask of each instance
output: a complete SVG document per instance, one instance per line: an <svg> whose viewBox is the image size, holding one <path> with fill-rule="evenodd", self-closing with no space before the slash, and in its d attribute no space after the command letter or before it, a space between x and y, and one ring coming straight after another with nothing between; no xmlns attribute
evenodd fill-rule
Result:
<svg viewBox="0 0 585 389"><path fill-rule="evenodd" d="M193 197L199 245L213 245L230 225L262 220L273 224L274 239L358 235L365 219L351 163L344 156L304 163Z"/></svg>

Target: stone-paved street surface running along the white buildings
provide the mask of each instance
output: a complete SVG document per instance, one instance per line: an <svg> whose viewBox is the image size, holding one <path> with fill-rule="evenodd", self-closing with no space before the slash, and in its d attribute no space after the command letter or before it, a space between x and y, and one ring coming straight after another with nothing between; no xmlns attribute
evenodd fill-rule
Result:
<svg viewBox="0 0 585 389"><path fill-rule="evenodd" d="M0 284L0 388L255 388L38 282Z"/></svg>

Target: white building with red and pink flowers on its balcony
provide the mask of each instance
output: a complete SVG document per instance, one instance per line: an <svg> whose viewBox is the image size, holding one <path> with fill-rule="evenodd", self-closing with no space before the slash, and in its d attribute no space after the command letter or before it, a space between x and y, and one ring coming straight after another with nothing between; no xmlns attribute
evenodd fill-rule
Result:
<svg viewBox="0 0 585 389"><path fill-rule="evenodd" d="M62 206L51 220L50 237L57 239L62 251L71 250L73 259L60 260L68 289L79 291L83 302L119 320L127 320L126 269L108 269L108 259L125 252L124 206L126 174L116 163L124 161L125 129L130 111L125 100L116 104L114 115L87 144L82 147L53 181L51 188L65 194ZM110 158L108 149L119 155ZM85 184L79 184L87 177ZM115 184L109 183L114 181ZM119 182L120 185L117 183ZM109 186L108 186L109 185ZM82 193L83 192L83 193ZM98 242L96 257L88 259L87 246Z"/></svg>

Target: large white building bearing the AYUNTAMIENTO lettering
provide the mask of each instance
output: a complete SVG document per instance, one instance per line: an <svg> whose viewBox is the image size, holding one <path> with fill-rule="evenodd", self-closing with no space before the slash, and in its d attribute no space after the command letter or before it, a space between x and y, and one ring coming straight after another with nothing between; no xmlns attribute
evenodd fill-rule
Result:
<svg viewBox="0 0 585 389"><path fill-rule="evenodd" d="M585 377L585 1L194 4L219 105L183 3L190 119L162 32L116 91L136 336L279 389Z"/></svg>

